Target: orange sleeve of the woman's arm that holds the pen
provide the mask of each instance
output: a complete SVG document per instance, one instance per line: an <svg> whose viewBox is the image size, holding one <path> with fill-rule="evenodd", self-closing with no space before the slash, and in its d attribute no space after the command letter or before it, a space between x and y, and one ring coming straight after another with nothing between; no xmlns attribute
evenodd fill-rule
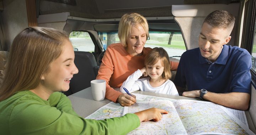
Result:
<svg viewBox="0 0 256 135"><path fill-rule="evenodd" d="M114 50L112 50L111 48L107 48L107 50L102 58L102 63L100 65L100 69L98 70L98 75L97 75L96 79L106 80L105 98L116 103L117 98L122 93L114 90L109 85L110 77L114 72L114 62L115 61L113 60L113 58L115 58L115 56L112 56L112 55L114 55Z"/></svg>

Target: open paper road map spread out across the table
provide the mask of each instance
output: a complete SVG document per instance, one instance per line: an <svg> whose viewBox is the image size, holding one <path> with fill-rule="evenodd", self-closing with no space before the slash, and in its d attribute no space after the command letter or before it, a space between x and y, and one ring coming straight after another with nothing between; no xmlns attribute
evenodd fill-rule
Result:
<svg viewBox="0 0 256 135"><path fill-rule="evenodd" d="M244 111L239 113L235 111L239 115L238 119L237 115L230 113L230 110L225 110L225 107L212 102L134 95L138 105L122 107L111 102L86 119L101 120L120 117L126 113L135 113L155 107L165 109L169 113L163 114L162 119L158 122L142 122L137 129L129 134L254 134L248 128Z"/></svg>

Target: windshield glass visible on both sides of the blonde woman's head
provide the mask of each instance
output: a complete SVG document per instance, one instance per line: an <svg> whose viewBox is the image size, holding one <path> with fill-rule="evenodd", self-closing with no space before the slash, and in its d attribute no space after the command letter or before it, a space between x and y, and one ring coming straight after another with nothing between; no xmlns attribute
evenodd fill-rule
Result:
<svg viewBox="0 0 256 135"><path fill-rule="evenodd" d="M98 34L105 50L108 45L120 42L117 32L98 32ZM180 56L186 51L181 32L150 31L149 36L150 39L146 41L145 47L162 47L169 57L180 59Z"/></svg>

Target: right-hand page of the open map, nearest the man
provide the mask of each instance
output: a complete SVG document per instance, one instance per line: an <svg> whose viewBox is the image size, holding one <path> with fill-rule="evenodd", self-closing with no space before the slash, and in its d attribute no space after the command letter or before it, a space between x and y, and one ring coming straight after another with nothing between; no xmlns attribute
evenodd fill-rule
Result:
<svg viewBox="0 0 256 135"><path fill-rule="evenodd" d="M254 134L239 119L230 117L218 104L205 101L177 100L173 102L188 135Z"/></svg>

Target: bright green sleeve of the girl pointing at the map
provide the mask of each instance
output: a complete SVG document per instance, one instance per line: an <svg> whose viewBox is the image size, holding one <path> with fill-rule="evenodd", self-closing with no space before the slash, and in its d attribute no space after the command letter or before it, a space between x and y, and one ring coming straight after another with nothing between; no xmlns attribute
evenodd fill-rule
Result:
<svg viewBox="0 0 256 135"><path fill-rule="evenodd" d="M135 114L105 120L84 119L34 101L20 102L10 117L10 127L15 129L11 134L26 135L127 134L139 125Z"/></svg>

